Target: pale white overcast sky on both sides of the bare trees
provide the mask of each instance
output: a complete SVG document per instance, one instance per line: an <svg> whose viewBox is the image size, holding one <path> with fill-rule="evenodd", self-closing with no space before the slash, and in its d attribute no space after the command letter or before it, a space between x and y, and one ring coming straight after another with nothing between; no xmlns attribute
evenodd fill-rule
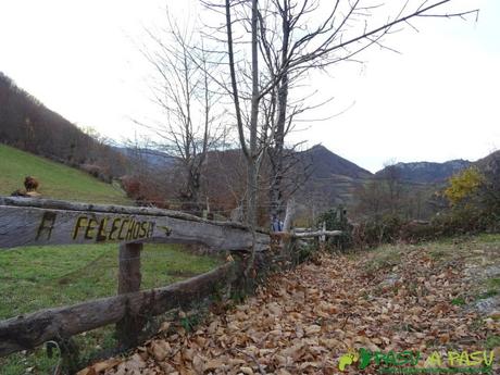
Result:
<svg viewBox="0 0 500 375"><path fill-rule="evenodd" d="M0 72L78 126L121 141L143 129L154 108L151 70L138 45L143 28L179 20L196 0L0 1ZM322 143L375 172L388 162L477 160L500 149L500 1L457 0L479 8L477 22L424 18L372 48L362 63L314 74L314 99L290 142ZM317 121L320 118L328 118Z"/></svg>

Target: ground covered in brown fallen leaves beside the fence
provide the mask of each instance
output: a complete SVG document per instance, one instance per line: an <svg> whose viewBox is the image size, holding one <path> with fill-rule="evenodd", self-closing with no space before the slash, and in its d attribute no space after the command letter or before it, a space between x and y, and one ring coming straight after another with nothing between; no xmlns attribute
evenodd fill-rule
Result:
<svg viewBox="0 0 500 375"><path fill-rule="evenodd" d="M165 325L79 375L377 373L340 372L339 358L360 348L421 351L418 366L434 351L488 350L500 373L499 277L499 236L323 255L195 332Z"/></svg>

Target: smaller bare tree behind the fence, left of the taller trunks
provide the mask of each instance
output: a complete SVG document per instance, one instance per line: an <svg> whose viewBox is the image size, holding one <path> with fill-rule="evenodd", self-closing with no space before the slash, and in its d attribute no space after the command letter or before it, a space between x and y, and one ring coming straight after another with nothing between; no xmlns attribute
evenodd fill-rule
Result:
<svg viewBox="0 0 500 375"><path fill-rule="evenodd" d="M141 49L154 68L151 91L163 114L160 123L146 126L157 136L155 148L180 162L183 209L199 212L202 167L223 133L224 109L216 105L220 96L211 78L215 65L203 39L167 20L167 30L147 30L149 43Z"/></svg>

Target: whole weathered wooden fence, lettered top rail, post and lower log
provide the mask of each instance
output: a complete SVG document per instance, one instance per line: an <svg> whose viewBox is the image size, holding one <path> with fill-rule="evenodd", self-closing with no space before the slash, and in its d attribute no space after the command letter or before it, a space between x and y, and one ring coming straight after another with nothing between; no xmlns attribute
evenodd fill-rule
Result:
<svg viewBox="0 0 500 375"><path fill-rule="evenodd" d="M102 242L120 243L118 295L0 322L0 355L113 323L120 343L135 345L145 315L159 315L200 301L239 274L232 262L186 282L139 291L143 242L202 243L213 251L248 251L252 249L253 235L238 223L212 222L168 210L0 197L0 251ZM258 232L254 250L264 251L268 246L268 234Z"/></svg>

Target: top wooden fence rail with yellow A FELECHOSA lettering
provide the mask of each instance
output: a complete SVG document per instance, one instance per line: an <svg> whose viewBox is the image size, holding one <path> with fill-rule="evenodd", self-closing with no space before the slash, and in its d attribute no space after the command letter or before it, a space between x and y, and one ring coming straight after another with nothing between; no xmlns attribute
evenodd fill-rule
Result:
<svg viewBox="0 0 500 375"><path fill-rule="evenodd" d="M211 222L182 212L0 197L0 249L29 245L102 242L202 243L216 250L248 250L253 236L238 223ZM255 250L268 247L255 234Z"/></svg>

